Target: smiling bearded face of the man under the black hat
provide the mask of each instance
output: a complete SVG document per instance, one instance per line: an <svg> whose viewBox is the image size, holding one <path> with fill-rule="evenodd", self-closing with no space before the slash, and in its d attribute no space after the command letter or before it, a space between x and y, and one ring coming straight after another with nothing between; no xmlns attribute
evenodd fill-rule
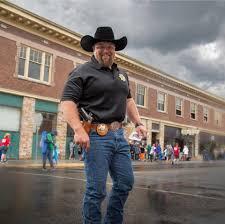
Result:
<svg viewBox="0 0 225 224"><path fill-rule="evenodd" d="M99 64L111 67L115 58L115 45L110 42L98 42L94 45L94 56Z"/></svg>

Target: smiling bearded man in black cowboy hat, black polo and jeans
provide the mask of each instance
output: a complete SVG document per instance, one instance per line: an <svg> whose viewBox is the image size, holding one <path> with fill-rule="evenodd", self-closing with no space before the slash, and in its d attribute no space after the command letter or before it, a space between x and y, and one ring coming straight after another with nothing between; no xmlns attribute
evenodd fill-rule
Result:
<svg viewBox="0 0 225 224"><path fill-rule="evenodd" d="M108 172L113 187L104 223L123 222L123 207L134 182L129 145L121 123L126 111L138 134L146 136L146 128L141 124L130 94L127 74L114 63L115 51L123 50L126 45L127 38L115 39L111 27L98 27L94 37L82 37L81 47L93 52L93 56L70 74L61 99L64 117L75 132L75 143L85 149L85 224L101 223L101 202L106 196ZM80 108L92 116L90 133L82 126Z"/></svg>

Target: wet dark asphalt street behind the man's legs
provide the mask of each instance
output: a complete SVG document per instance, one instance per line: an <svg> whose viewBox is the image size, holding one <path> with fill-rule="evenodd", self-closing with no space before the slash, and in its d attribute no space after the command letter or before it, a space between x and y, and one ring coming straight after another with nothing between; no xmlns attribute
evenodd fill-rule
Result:
<svg viewBox="0 0 225 224"><path fill-rule="evenodd" d="M126 224L224 224L225 162L137 166ZM0 166L0 223L80 224L82 169ZM108 179L108 191L111 180ZM107 200L107 199L106 199ZM103 215L106 208L103 203Z"/></svg>

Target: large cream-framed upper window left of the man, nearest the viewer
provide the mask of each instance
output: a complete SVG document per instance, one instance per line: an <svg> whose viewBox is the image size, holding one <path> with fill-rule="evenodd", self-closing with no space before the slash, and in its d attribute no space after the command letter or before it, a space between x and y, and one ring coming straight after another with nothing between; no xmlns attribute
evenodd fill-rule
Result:
<svg viewBox="0 0 225 224"><path fill-rule="evenodd" d="M18 75L44 83L50 82L52 55L22 45L19 54Z"/></svg>

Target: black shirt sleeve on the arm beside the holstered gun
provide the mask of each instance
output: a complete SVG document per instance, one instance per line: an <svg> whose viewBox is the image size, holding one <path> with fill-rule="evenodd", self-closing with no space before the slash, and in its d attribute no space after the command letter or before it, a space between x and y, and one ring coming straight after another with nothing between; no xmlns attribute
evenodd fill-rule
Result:
<svg viewBox="0 0 225 224"><path fill-rule="evenodd" d="M70 73L69 78L64 86L61 101L73 101L78 103L83 94L82 76L74 70Z"/></svg>

